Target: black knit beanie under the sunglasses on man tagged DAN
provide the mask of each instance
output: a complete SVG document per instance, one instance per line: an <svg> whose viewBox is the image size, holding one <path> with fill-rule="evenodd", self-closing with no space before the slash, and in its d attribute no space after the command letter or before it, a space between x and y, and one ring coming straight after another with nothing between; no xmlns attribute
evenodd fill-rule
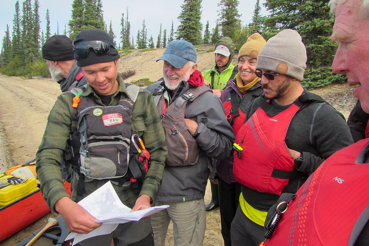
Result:
<svg viewBox="0 0 369 246"><path fill-rule="evenodd" d="M85 29L80 31L76 35L73 45L80 44L86 41L105 41L110 45L109 53L101 56L97 56L96 53L90 49L89 55L87 57L79 57L74 54L74 58L77 60L77 66L84 67L91 64L101 63L101 62L111 62L117 58L120 58L117 49L114 47L114 39L106 32L100 29Z"/></svg>

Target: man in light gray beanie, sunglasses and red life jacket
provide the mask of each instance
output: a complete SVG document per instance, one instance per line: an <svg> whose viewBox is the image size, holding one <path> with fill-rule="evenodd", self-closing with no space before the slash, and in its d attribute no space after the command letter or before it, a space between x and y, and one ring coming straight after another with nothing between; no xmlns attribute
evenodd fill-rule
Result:
<svg viewBox="0 0 369 246"><path fill-rule="evenodd" d="M301 36L291 29L259 53L255 74L265 98L252 102L235 139L233 173L242 186L231 224L234 246L259 245L279 195L295 193L325 159L353 143L345 117L301 86L306 60Z"/></svg>

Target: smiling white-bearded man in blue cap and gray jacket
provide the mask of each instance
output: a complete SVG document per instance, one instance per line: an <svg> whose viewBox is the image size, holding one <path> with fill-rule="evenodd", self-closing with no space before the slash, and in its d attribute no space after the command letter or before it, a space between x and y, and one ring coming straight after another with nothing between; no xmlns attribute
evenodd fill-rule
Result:
<svg viewBox="0 0 369 246"><path fill-rule="evenodd" d="M210 158L231 154L234 133L220 99L203 84L192 44L172 41L158 60L163 78L146 89L154 95L168 156L154 205L170 207L151 216L155 245L165 244L170 220L174 245L203 245Z"/></svg>

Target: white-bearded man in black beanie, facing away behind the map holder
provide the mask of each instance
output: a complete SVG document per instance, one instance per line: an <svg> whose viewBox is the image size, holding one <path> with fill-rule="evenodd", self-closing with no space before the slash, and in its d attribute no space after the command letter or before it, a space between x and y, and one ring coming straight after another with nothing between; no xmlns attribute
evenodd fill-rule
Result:
<svg viewBox="0 0 369 246"><path fill-rule="evenodd" d="M54 35L46 40L42 46L42 57L46 60L51 78L60 84L62 92L67 91L76 79L82 79L82 69L74 59L72 39L67 36Z"/></svg>

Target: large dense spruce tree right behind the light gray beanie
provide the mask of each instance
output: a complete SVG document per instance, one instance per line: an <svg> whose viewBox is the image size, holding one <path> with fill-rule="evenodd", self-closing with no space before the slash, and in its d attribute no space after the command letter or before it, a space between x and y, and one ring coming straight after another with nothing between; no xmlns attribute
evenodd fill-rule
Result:
<svg viewBox="0 0 369 246"><path fill-rule="evenodd" d="M330 14L329 0L268 0L264 3L273 13L264 18L266 39L283 29L300 33L307 51L307 70L302 81L305 87L324 86L332 81L343 82L346 76L332 72L337 45L330 40L334 15Z"/></svg>

